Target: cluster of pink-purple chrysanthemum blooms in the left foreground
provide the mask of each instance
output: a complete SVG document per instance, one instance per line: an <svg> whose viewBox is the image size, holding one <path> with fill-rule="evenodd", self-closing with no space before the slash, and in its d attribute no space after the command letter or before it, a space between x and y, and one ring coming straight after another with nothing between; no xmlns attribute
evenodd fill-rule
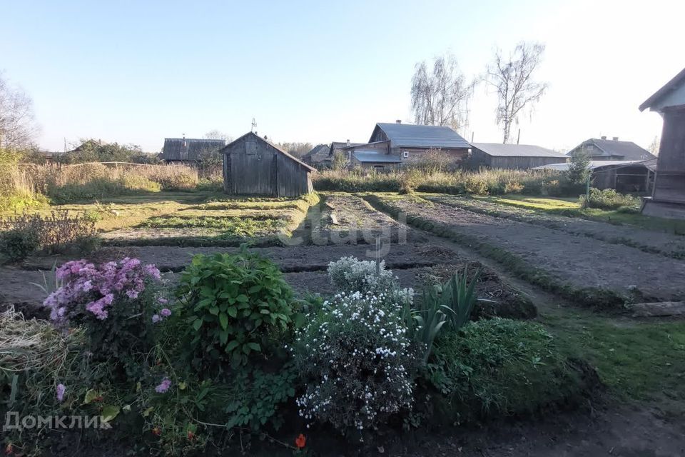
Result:
<svg viewBox="0 0 685 457"><path fill-rule="evenodd" d="M57 268L56 276L64 281L44 301L51 308L50 318L58 324L68 323L68 315L83 306L103 320L113 303L136 300L146 288L146 281L159 281L154 265L141 265L137 258L123 258L100 266L85 260L71 261Z"/></svg>

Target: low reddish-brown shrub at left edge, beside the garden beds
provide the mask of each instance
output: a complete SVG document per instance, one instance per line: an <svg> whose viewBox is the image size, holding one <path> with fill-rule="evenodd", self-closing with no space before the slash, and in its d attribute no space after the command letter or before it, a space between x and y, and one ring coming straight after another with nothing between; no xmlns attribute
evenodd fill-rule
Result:
<svg viewBox="0 0 685 457"><path fill-rule="evenodd" d="M99 241L92 217L67 210L51 211L49 216L21 214L0 219L0 231L7 230L34 233L38 239L36 248L46 253L88 253Z"/></svg>

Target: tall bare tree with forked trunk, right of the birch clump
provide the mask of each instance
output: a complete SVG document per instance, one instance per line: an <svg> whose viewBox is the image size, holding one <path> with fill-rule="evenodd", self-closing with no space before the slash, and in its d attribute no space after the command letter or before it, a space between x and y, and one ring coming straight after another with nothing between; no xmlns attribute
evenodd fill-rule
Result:
<svg viewBox="0 0 685 457"><path fill-rule="evenodd" d="M487 67L487 82L497 91L497 124L502 127L504 138L509 141L512 124L518 122L525 108L539 101L547 90L547 83L534 80L534 72L542 61L544 44L519 43L508 57L499 49L494 53L492 64Z"/></svg>

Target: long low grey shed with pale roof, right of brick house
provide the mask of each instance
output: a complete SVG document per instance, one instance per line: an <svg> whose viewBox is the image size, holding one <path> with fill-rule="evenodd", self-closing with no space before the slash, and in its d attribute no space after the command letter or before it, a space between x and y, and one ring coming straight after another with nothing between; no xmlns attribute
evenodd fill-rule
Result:
<svg viewBox="0 0 685 457"><path fill-rule="evenodd" d="M527 170L535 166L563 164L569 158L552 149L529 144L472 143L472 168Z"/></svg>

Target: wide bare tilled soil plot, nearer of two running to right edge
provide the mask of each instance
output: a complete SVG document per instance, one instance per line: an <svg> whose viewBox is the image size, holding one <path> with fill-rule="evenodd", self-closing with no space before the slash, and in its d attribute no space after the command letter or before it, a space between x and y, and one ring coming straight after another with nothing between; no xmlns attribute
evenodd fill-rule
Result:
<svg viewBox="0 0 685 457"><path fill-rule="evenodd" d="M674 280L685 277L685 261L413 196L380 195L370 200L393 213L403 211L412 224L477 247L498 260L514 254L516 258L507 261L517 262L517 274L539 285L540 276L547 275L562 285L557 288L608 288L625 295L637 288L649 298L664 300L685 296L685 283Z"/></svg>

